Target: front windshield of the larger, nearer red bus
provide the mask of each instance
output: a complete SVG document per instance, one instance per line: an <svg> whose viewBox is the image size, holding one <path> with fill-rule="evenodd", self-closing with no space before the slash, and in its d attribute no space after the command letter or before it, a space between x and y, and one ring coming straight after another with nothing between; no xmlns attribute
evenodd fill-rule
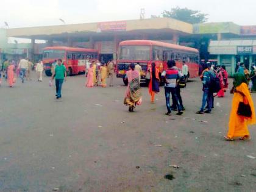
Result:
<svg viewBox="0 0 256 192"><path fill-rule="evenodd" d="M123 60L150 60L150 46L127 45L121 46L119 59Z"/></svg>

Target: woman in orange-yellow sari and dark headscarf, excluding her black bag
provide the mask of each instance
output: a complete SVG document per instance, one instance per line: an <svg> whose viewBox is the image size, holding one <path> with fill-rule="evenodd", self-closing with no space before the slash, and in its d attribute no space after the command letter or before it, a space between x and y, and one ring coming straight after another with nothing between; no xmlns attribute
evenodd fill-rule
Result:
<svg viewBox="0 0 256 192"><path fill-rule="evenodd" d="M241 137L240 140L251 140L248 130L249 125L256 124L254 102L247 86L247 80L244 74L236 73L234 75L233 88L230 93L234 93L232 110L229 119L229 132L225 136L226 140L232 141L235 137ZM249 104L251 107L251 117L238 115L238 106L240 102Z"/></svg>

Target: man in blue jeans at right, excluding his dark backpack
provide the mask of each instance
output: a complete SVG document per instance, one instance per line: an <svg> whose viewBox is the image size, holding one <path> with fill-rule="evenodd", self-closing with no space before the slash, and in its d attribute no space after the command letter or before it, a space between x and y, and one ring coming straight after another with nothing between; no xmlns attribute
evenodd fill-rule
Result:
<svg viewBox="0 0 256 192"><path fill-rule="evenodd" d="M210 91L211 76L214 76L213 72L211 71L211 64L207 63L207 69L204 71L204 74L202 74L202 84L203 84L202 107L198 112L196 112L196 114L204 114L204 113L212 112L213 93ZM208 103L208 109L204 112L204 107L206 102Z"/></svg>

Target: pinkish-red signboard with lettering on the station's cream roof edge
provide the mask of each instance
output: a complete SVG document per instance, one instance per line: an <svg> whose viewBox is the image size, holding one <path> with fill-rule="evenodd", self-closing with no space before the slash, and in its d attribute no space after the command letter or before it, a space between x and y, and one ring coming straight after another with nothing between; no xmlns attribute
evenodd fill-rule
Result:
<svg viewBox="0 0 256 192"><path fill-rule="evenodd" d="M111 21L98 23L97 32L125 31L126 21Z"/></svg>

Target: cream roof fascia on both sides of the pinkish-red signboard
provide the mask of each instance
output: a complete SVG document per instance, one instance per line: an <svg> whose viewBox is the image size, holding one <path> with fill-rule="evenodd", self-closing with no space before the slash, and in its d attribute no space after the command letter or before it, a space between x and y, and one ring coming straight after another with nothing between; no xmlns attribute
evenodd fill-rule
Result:
<svg viewBox="0 0 256 192"><path fill-rule="evenodd" d="M171 18L153 18L126 21L126 31L144 29L172 29L188 34L193 33L191 24ZM97 32L98 23L68 24L60 26L26 27L7 29L7 37L32 37L37 35L74 34L79 32Z"/></svg>

